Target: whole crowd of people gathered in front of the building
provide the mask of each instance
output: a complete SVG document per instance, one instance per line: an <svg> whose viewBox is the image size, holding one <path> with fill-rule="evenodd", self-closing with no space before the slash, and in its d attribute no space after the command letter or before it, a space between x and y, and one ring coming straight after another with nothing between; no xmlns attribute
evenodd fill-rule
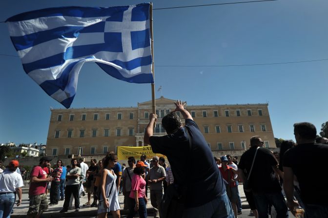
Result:
<svg viewBox="0 0 328 218"><path fill-rule="evenodd" d="M184 103L178 100L175 105L176 109L162 119L167 135L153 135L156 114L150 114L144 134L144 143L151 145L154 153L165 155L170 165L164 157L154 156L148 162L142 155L140 160L129 157L128 166L122 167L114 152L108 152L98 162L91 159L90 165L82 158L71 159L66 167L62 160L51 167L52 159L42 157L30 174L27 217L41 217L43 211L60 200L64 200L60 213L65 213L73 198L78 212L80 196L86 192L88 200L83 205L98 208L98 218L106 218L108 213L120 218L119 193L124 196L123 209L128 210L128 218L136 213L146 218L149 188L154 218L237 218L242 214L239 182L243 182L255 218L267 218L269 214L287 218L288 208L294 215L305 211L305 218L328 217L328 188L320 182L313 185L321 181L321 166L328 157L328 139L317 138L313 124L295 123L296 143L283 141L280 153L264 148L259 136L252 137L250 148L238 162L238 157L229 154L214 157L197 124L184 109ZM185 125L175 112L184 117ZM315 166L304 162L309 158L316 160ZM196 159L199 161L193 161ZM12 160L0 174L0 217L3 218L10 217L16 195L17 206L21 204L23 180L17 173L18 167L19 162ZM315 176L319 178L315 180ZM171 187L176 190L179 210L163 206Z"/></svg>

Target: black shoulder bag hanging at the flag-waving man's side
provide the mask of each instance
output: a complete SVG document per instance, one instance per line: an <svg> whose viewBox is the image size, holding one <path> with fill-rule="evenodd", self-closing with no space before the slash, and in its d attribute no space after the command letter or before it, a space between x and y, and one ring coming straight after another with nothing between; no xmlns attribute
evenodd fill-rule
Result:
<svg viewBox="0 0 328 218"><path fill-rule="evenodd" d="M184 127L189 139L189 151L191 150L191 137L189 130ZM172 170L173 177L174 171ZM186 199L187 187L178 184L170 184L166 187L164 196L161 201L161 218L182 218L184 213L184 202Z"/></svg>

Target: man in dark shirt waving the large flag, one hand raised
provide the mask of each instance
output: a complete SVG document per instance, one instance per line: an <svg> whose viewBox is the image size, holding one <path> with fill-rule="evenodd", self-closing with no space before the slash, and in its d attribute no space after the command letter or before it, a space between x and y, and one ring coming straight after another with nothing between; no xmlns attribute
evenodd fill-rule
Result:
<svg viewBox="0 0 328 218"><path fill-rule="evenodd" d="M174 103L176 109L162 119L168 135L153 136L157 115L150 114L144 144L150 144L154 153L167 157L174 176L174 185L187 189L183 218L233 218L223 178L203 134L189 112L184 109L185 103L179 100ZM183 115L185 127L176 111ZM186 162L187 165L181 164Z"/></svg>

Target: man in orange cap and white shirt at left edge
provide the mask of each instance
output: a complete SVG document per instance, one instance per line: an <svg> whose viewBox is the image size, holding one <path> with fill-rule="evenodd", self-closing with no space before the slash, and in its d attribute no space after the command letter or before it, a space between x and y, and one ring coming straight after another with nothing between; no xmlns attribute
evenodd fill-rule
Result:
<svg viewBox="0 0 328 218"><path fill-rule="evenodd" d="M23 179L16 171L20 163L18 160L10 161L8 170L0 174L0 217L9 218L18 193L17 206L21 204Z"/></svg>

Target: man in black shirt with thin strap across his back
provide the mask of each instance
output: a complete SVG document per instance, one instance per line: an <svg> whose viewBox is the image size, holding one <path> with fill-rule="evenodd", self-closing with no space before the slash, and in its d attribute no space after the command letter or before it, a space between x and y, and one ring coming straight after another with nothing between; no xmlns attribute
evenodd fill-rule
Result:
<svg viewBox="0 0 328 218"><path fill-rule="evenodd" d="M250 171L254 156L253 168ZM259 218L268 217L269 204L276 209L277 218L288 217L288 209L277 176L278 161L270 150L263 148L263 140L259 136L250 139L250 148L240 158L238 175L244 182L245 191L251 191L253 194Z"/></svg>

